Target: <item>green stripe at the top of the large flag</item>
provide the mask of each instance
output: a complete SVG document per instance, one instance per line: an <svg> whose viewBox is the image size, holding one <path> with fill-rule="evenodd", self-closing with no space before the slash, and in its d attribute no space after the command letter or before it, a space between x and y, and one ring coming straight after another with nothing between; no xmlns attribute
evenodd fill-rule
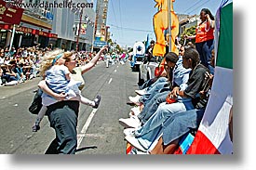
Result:
<svg viewBox="0 0 256 170"><path fill-rule="evenodd" d="M221 9L221 28L216 65L233 69L233 3Z"/></svg>

